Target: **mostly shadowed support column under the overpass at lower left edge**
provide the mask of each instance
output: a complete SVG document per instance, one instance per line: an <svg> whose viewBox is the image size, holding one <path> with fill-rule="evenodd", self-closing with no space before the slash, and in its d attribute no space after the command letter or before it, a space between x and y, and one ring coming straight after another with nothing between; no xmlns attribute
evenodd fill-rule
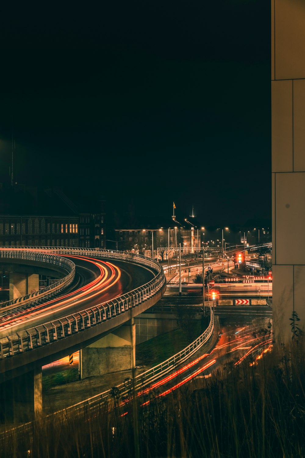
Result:
<svg viewBox="0 0 305 458"><path fill-rule="evenodd" d="M0 421L14 423L33 420L43 409L42 369L17 376L0 384Z"/></svg>

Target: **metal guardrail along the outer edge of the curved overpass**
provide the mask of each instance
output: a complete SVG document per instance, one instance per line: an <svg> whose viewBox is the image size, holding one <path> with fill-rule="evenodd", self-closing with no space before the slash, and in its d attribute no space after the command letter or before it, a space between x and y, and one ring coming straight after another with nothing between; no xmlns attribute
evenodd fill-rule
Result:
<svg viewBox="0 0 305 458"><path fill-rule="evenodd" d="M35 248L37 249L37 247ZM67 254L68 252L74 253L75 249L61 249L60 251L64 251ZM80 250L77 250L77 252L80 253ZM102 304L95 305L87 308L86 310L75 312L68 316L62 316L52 322L46 322L36 327L1 338L0 360L41 347L45 344L50 344L60 338L67 337L96 326L97 324L124 313L125 311L128 311L129 309L134 308L142 302L150 299L150 297L154 296L160 289L163 288L164 284L166 284L166 278L162 267L158 262L155 262L150 258L110 250L90 251L83 249L81 252L83 254L90 252L90 256L102 258L115 257L116 259L123 259L125 261L132 260L133 262L153 267L157 271L157 274L155 278L147 284L129 291L126 294L117 296L110 301L103 302Z"/></svg>

